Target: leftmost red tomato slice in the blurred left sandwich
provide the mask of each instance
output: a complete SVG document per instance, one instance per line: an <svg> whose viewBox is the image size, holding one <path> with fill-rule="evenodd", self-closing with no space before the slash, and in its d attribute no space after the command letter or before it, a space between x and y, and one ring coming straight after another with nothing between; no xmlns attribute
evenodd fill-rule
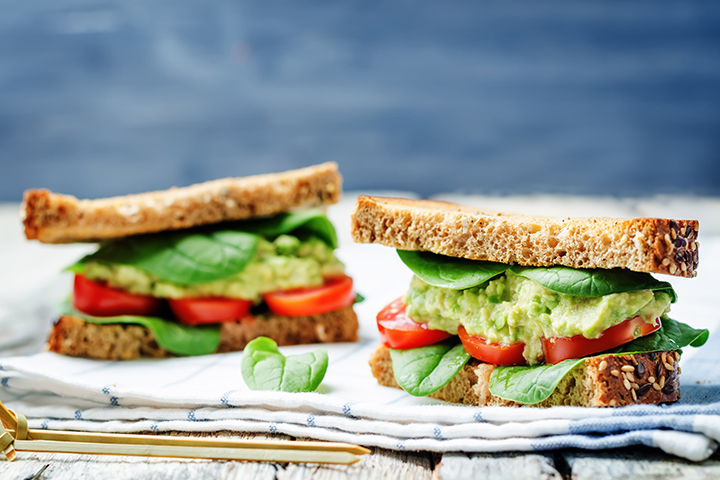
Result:
<svg viewBox="0 0 720 480"><path fill-rule="evenodd" d="M88 315L114 317L116 315L156 315L163 301L149 295L136 295L75 275L73 305Z"/></svg>

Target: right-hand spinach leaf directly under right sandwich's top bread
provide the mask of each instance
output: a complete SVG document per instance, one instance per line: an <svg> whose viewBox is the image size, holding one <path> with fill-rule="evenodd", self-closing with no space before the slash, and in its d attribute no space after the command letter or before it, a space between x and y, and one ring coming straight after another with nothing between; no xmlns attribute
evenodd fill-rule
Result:
<svg viewBox="0 0 720 480"><path fill-rule="evenodd" d="M660 290L667 292L673 303L677 299L668 282L661 282L649 273L633 272L621 268L576 269L570 267L513 266L512 272L534 280L545 288L576 297L602 297L611 293Z"/></svg>

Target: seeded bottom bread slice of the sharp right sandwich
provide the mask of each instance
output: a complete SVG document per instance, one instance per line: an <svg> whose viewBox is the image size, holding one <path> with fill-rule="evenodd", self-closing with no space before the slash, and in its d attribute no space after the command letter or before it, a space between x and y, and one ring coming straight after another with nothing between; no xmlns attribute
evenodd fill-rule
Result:
<svg viewBox="0 0 720 480"><path fill-rule="evenodd" d="M589 357L560 381L548 399L525 406L615 407L675 402L680 398L679 359L679 352ZM370 368L380 385L400 388L385 345L380 345L370 357ZM626 371L630 368L631 371ZM470 359L447 385L430 397L477 406L523 406L490 393L488 382L494 369L495 365Z"/></svg>

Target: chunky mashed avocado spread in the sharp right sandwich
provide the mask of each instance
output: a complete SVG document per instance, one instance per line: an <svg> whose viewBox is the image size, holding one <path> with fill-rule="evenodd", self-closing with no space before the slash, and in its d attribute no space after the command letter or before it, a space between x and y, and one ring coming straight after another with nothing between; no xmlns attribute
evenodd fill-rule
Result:
<svg viewBox="0 0 720 480"><path fill-rule="evenodd" d="M628 318L648 323L669 312L671 297L664 291L640 290L599 298L554 292L511 271L465 290L428 285L414 277L405 296L407 313L428 327L470 335L489 342L525 343L529 364L542 357L542 339L600 334Z"/></svg>

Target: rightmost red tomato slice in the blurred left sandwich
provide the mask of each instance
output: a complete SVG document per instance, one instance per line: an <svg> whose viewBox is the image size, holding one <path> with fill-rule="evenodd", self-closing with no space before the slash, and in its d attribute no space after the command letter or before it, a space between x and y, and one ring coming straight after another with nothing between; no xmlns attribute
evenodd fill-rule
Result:
<svg viewBox="0 0 720 480"><path fill-rule="evenodd" d="M343 275L326 279L320 287L279 290L264 294L263 299L276 315L300 317L348 307L355 301L355 292L352 278Z"/></svg>

